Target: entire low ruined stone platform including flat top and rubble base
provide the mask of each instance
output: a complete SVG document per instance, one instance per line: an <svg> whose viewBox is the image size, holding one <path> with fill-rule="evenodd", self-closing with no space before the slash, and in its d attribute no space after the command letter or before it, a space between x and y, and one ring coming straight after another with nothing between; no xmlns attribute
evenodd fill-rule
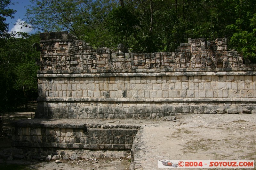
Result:
<svg viewBox="0 0 256 170"><path fill-rule="evenodd" d="M136 121L100 119L23 119L11 125L13 148L33 158L45 152L67 159L74 154L80 158L125 156L141 127Z"/></svg>

